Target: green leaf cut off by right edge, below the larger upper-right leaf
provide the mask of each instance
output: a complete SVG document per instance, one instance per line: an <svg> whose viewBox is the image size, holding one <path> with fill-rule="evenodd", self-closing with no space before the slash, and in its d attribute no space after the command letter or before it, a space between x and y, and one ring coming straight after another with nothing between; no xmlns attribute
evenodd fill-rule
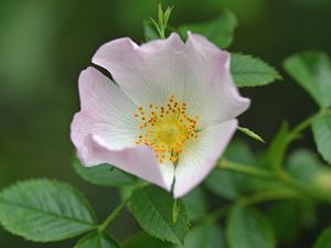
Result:
<svg viewBox="0 0 331 248"><path fill-rule="evenodd" d="M331 95L329 97L331 98ZM312 132L319 153L325 161L331 163L331 116L316 118L312 121Z"/></svg>

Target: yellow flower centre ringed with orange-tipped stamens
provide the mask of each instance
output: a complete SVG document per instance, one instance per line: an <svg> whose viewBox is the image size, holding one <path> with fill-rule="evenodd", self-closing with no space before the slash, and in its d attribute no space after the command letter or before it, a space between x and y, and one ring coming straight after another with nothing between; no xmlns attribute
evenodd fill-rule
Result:
<svg viewBox="0 0 331 248"><path fill-rule="evenodd" d="M186 115L186 103L178 103L173 95L167 106L149 105L148 109L138 107L136 118L141 119L136 143L150 147L159 162L175 163L183 152L184 143L191 138L197 138L195 130L199 116L190 118Z"/></svg>

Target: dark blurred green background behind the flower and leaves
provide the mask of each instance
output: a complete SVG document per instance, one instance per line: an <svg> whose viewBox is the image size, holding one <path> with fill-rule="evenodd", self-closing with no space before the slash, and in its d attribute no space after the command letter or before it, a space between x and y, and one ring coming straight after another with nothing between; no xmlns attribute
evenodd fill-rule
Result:
<svg viewBox="0 0 331 248"><path fill-rule="evenodd" d="M142 41L142 20L154 17L157 0L0 1L0 188L18 180L47 176L87 194L99 218L117 203L113 190L75 175L70 140L78 110L77 77L103 43L130 36ZM281 71L285 56L303 50L331 52L329 0L177 0L170 24L205 21L222 8L239 19L231 51L260 56ZM282 72L282 71L281 71ZM242 118L267 141L284 119L295 125L317 107L285 75L265 88L243 90L253 106ZM311 139L303 141L313 148ZM255 149L263 148L250 141ZM122 238L135 222L121 217L113 228ZM303 237L302 237L303 239ZM303 239L309 244L310 237ZM303 244L305 244L303 242ZM73 247L75 240L32 244L0 229L0 247ZM303 246L301 246L303 247Z"/></svg>

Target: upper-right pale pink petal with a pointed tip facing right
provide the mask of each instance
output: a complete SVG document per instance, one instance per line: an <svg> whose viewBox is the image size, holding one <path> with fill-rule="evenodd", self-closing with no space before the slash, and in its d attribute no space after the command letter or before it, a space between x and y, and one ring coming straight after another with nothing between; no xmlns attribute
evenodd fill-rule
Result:
<svg viewBox="0 0 331 248"><path fill-rule="evenodd" d="M192 63L192 71L201 72L195 74L195 77L205 86L201 89L199 100L204 105L201 116L209 120L209 125L215 125L244 112L249 107L250 100L242 97L233 83L229 53L220 50L199 34L189 33L186 46L190 51L189 61Z"/></svg>

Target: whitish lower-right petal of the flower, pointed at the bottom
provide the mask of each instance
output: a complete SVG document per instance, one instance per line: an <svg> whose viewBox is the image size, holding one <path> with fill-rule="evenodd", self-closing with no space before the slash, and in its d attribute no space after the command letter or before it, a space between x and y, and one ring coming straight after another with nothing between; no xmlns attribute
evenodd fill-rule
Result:
<svg viewBox="0 0 331 248"><path fill-rule="evenodd" d="M213 126L188 141L175 166L174 197L181 197L196 186L212 171L237 128L237 120Z"/></svg>

